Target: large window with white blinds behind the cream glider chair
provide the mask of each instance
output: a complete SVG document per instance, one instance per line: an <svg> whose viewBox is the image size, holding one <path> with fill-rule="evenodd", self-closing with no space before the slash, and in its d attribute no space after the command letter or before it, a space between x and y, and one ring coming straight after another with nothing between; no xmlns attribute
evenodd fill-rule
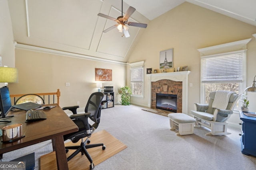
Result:
<svg viewBox="0 0 256 170"><path fill-rule="evenodd" d="M244 90L243 63L245 55L245 51L234 51L201 58L204 103L208 103L210 92L216 90L227 90L241 94Z"/></svg>

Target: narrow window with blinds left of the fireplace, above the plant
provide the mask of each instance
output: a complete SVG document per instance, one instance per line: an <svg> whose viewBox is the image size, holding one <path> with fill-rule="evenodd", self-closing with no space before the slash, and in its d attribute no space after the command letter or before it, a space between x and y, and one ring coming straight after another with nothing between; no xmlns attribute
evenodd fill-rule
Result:
<svg viewBox="0 0 256 170"><path fill-rule="evenodd" d="M143 97L144 87L144 62L131 63L130 66L130 83L132 96Z"/></svg>

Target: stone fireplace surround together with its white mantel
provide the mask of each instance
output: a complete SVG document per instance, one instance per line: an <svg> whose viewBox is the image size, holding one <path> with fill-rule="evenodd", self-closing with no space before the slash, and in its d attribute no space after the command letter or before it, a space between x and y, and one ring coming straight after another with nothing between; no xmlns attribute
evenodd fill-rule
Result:
<svg viewBox="0 0 256 170"><path fill-rule="evenodd" d="M148 107L156 108L156 93L177 95L177 113L188 114L188 74L190 71L147 74Z"/></svg>

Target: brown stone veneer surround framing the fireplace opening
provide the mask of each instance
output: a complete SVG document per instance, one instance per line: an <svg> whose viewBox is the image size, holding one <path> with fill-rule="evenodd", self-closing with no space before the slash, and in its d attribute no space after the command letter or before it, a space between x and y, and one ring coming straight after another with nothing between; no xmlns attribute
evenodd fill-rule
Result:
<svg viewBox="0 0 256 170"><path fill-rule="evenodd" d="M152 109L156 109L156 93L177 95L177 113L182 113L182 82L166 79L151 82Z"/></svg>

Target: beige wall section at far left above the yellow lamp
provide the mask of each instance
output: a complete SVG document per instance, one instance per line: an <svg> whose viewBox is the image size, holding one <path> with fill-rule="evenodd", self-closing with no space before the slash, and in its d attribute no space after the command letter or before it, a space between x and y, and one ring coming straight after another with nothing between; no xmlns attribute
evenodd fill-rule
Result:
<svg viewBox="0 0 256 170"><path fill-rule="evenodd" d="M15 67L15 53L13 45L12 23L7 0L0 0L0 56L2 66ZM4 83L0 83L0 87Z"/></svg>

